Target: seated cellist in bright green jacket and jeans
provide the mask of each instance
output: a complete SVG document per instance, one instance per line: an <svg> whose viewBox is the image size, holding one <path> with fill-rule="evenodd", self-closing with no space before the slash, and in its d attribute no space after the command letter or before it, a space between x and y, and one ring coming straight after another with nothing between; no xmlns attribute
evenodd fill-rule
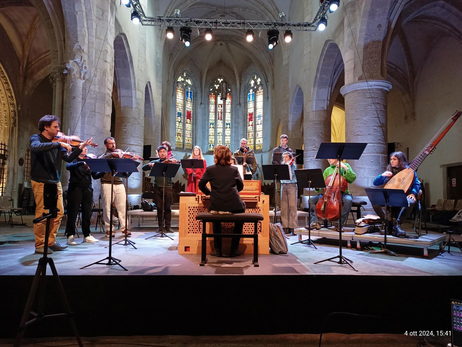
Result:
<svg viewBox="0 0 462 347"><path fill-rule="evenodd" d="M324 180L333 174L335 171L335 167L339 166L337 159L328 159L330 166L324 170ZM340 174L343 178L351 184L356 180L356 174L354 173L353 169L351 168L350 164L342 163L340 161ZM328 182L326 183L328 184ZM321 192L320 189L315 189L316 192ZM321 229L321 224L318 222L318 216L316 216L316 204L319 199L322 198L322 194L312 196L310 198L310 215L311 215L311 228ZM346 188L345 192L342 193L342 226L345 225L346 219L348 218L348 213L351 211L351 206L353 205L353 198L348 192L348 188ZM336 223L334 230L339 230L340 225L339 222Z"/></svg>

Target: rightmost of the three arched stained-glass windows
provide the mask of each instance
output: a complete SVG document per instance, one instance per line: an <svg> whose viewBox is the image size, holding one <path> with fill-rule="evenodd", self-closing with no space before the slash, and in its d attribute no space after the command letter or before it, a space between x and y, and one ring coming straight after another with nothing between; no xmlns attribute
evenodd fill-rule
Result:
<svg viewBox="0 0 462 347"><path fill-rule="evenodd" d="M253 74L246 88L247 112L244 136L250 149L263 149L263 106L265 88L261 78Z"/></svg>

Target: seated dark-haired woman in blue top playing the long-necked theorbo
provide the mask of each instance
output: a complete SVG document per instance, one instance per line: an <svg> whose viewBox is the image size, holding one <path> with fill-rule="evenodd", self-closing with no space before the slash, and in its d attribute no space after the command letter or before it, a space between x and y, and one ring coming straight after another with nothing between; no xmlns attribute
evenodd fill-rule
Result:
<svg viewBox="0 0 462 347"><path fill-rule="evenodd" d="M401 152L393 152L390 155L390 163L387 166L387 171L383 174L380 174L374 180L374 186L382 186L383 184L387 183L395 174L399 173L401 170L407 168L407 158L406 155ZM393 218L391 216L386 217L386 232L388 234L393 234L393 236L397 237L406 237L406 233L401 228L401 224L404 223L409 217L416 202L416 196L420 190L420 182L417 178L417 174L414 173L414 180L412 182L411 187L406 192L407 195L407 203L408 206L403 207L401 209L400 215L398 219L393 225ZM379 205L372 205L372 208L377 213L377 216L385 220L385 212L383 211L382 207Z"/></svg>

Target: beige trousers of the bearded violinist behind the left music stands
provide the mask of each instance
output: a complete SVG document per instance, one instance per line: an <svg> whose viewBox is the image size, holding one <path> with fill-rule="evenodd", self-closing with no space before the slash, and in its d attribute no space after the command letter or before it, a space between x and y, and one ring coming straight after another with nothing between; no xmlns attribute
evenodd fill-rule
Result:
<svg viewBox="0 0 462 347"><path fill-rule="evenodd" d="M101 185L101 200L103 201L103 220L104 220L104 230L109 232L109 217L111 211L111 184L103 183ZM119 215L120 229L124 231L125 226L125 209L127 201L127 193L125 192L125 187L123 184L115 184L112 201L116 205L117 214ZM113 228L114 230L114 228Z"/></svg>

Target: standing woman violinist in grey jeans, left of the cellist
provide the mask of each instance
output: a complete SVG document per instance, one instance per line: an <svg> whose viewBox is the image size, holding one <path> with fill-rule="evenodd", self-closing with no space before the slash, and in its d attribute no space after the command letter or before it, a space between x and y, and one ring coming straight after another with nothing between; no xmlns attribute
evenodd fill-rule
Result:
<svg viewBox="0 0 462 347"><path fill-rule="evenodd" d="M295 170L297 166L294 163L292 152L282 154L281 164L289 165L290 180L281 180L281 222L284 233L293 233L293 229L298 228L297 216L297 177Z"/></svg>

